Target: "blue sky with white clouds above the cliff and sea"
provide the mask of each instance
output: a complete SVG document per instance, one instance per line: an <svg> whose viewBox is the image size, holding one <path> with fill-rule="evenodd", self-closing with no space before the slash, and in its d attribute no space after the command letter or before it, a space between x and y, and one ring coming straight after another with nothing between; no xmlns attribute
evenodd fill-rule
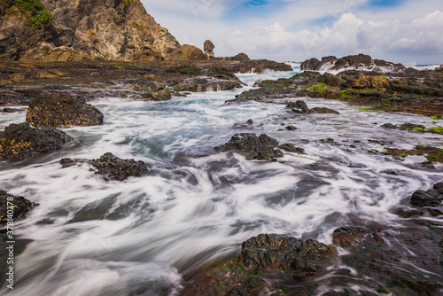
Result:
<svg viewBox="0 0 443 296"><path fill-rule="evenodd" d="M182 44L216 57L303 61L365 53L405 65L443 64L443 0L142 0Z"/></svg>

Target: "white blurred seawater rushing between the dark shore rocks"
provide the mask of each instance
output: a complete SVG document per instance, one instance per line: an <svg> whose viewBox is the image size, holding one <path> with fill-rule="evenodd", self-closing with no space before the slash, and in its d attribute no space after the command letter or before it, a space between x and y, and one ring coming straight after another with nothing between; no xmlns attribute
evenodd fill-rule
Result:
<svg viewBox="0 0 443 296"><path fill-rule="evenodd" d="M289 75L239 77L251 85ZM223 104L243 90L166 102L107 97L93 102L105 114L102 126L64 129L76 139L74 146L31 161L0 162L0 188L39 204L16 222L22 247L14 290L4 285L0 292L175 294L184 274L238 253L243 241L260 233L330 244L333 230L348 222L398 225L392 209L443 179L440 167L369 152L383 151L376 141L405 149L441 147L438 135L380 128L387 122L435 126L430 118L361 111L325 99L304 98L309 107L327 106L341 115L291 113L284 102L295 97L282 104ZM2 114L0 129L25 121L25 111ZM248 119L252 126L243 125ZM282 124L298 130L279 130ZM267 162L214 152L240 132L266 133L307 154L285 153ZM320 141L326 138L334 142ZM86 162L66 168L58 163L105 152L143 160L150 172L106 182Z"/></svg>

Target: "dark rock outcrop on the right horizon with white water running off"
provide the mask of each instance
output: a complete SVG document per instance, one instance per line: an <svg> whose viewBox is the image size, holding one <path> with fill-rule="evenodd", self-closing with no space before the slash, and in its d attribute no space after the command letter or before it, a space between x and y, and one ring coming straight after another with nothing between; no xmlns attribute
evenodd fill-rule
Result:
<svg viewBox="0 0 443 296"><path fill-rule="evenodd" d="M386 62L382 59L372 59L370 56L364 54L346 56L343 58L329 56L323 57L321 61L317 58L310 58L301 63L300 68L302 71L339 71L344 69L355 69L382 73L401 72L406 70L406 67L401 64Z"/></svg>

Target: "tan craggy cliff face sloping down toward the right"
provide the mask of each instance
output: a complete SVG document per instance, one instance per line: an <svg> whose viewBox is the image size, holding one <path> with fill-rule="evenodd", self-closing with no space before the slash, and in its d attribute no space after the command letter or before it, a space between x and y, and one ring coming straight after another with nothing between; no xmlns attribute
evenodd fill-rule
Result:
<svg viewBox="0 0 443 296"><path fill-rule="evenodd" d="M30 4L39 0L21 1ZM23 8L0 2L0 58L51 61L206 58L184 45L145 10L139 0L41 0ZM21 6L20 6L21 5ZM43 8L52 21L39 26ZM38 13L37 13L38 12ZM35 25L36 23L36 25Z"/></svg>

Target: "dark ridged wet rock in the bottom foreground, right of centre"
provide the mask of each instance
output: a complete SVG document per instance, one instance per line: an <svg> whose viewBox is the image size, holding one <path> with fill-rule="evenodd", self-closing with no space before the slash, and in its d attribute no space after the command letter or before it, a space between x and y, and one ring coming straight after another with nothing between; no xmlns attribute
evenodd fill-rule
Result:
<svg viewBox="0 0 443 296"><path fill-rule="evenodd" d="M315 240L260 234L242 245L239 256L246 270L291 269L297 277L313 276L331 261L335 250Z"/></svg>

